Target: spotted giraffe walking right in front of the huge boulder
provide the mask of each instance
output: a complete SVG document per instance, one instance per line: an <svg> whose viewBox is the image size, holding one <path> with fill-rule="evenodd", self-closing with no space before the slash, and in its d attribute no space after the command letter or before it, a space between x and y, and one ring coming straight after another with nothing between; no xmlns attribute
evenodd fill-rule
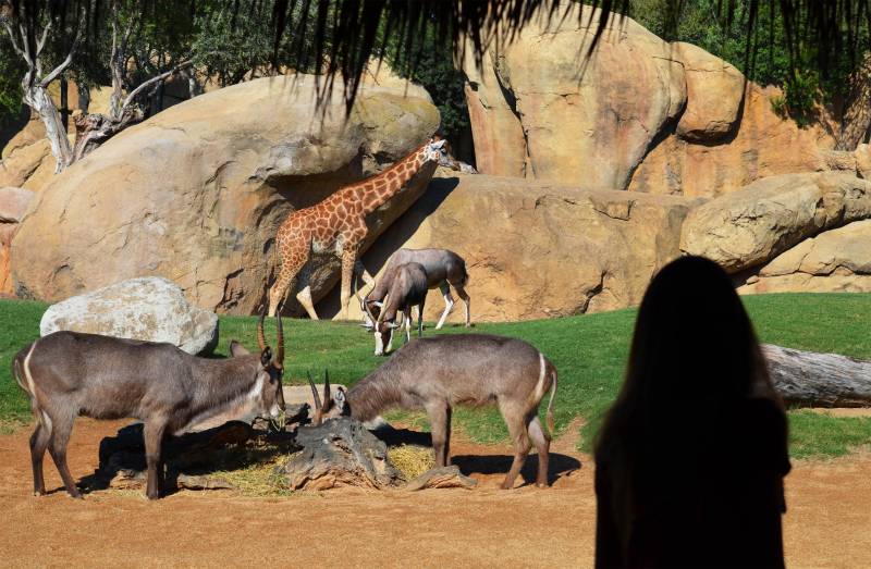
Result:
<svg viewBox="0 0 871 569"><path fill-rule="evenodd" d="M308 283L311 253L332 252L342 260L342 316L347 320L354 272L360 274L366 284L375 284L358 259L360 244L369 233L366 215L398 193L426 164L453 166L454 161L444 145L443 139L430 138L380 174L344 186L319 203L287 215L275 235L281 270L269 290L270 317L281 309L280 305L298 276L296 299L311 320L318 320Z"/></svg>

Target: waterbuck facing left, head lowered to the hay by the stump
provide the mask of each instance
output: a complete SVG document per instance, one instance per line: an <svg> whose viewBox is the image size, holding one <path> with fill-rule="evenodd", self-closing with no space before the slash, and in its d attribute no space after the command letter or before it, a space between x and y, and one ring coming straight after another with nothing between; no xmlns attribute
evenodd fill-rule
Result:
<svg viewBox="0 0 871 569"><path fill-rule="evenodd" d="M321 400L311 378L309 384L315 392L314 424L338 416L370 421L390 408L426 410L437 467L451 462L453 407L495 404L514 443L514 461L502 487L514 485L532 444L538 450L536 483L548 485L551 435L541 426L538 409L550 389L547 419L552 433L556 369L526 342L488 334L421 338L396 350L347 392L340 387L331 394L328 378Z"/></svg>

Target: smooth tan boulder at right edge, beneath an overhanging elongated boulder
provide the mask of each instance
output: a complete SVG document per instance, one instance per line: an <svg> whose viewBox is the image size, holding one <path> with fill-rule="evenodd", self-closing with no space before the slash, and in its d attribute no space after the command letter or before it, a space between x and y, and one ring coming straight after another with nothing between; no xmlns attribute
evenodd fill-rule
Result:
<svg viewBox="0 0 871 569"><path fill-rule="evenodd" d="M739 293L871 293L871 219L805 239L778 255Z"/></svg>

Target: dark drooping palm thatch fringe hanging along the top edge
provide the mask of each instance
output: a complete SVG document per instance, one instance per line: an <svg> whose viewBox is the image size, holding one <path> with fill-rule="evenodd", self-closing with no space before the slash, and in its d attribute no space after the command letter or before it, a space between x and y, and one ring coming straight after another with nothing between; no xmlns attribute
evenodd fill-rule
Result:
<svg viewBox="0 0 871 569"><path fill-rule="evenodd" d="M81 17L88 23L97 22L106 10L107 0L5 0L12 12L27 18ZM189 0L194 4L208 0ZM212 3L220 0L211 0ZM224 0L235 11L256 10L262 12L265 0ZM482 54L494 42L511 41L513 36L535 17L553 18L561 4L573 0L275 0L271 17L265 25L274 34L275 53L282 42L289 42L300 57L316 62L327 62L322 70L322 95L340 76L344 79L344 94L348 104L354 100L369 59L383 52L387 38L398 40L398 49L414 65L415 51L424 49L418 38L427 36L427 28L436 29L434 37L453 46L457 55L467 46L480 62ZM671 26L677 25L682 7L689 0L665 0L664 5ZM2 3L0 1L0 3ZM626 14L629 0L591 0L585 2L600 8L604 13ZM833 58L848 52L854 65L861 61L860 54L871 48L871 0L719 0L717 11L732 25L739 10L744 13L743 25L747 34L747 61L758 49L753 41L759 24L759 14L768 10L778 13L784 22L789 50L797 53L802 44L814 42L817 65L824 70ZM103 16L105 17L105 16ZM769 17L771 21L772 17ZM596 34L590 52L608 27L609 20L587 22ZM314 53L304 34L314 36ZM429 34L433 36L433 34ZM467 41L464 41L466 38ZM38 41L38 38L32 38ZM305 50L306 53L302 53ZM795 57L793 58L796 59Z"/></svg>

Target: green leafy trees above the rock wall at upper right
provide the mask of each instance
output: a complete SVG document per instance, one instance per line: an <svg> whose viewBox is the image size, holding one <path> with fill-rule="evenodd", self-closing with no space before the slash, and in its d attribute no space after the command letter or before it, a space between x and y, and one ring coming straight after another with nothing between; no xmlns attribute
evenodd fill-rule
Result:
<svg viewBox="0 0 871 569"><path fill-rule="evenodd" d="M790 3L786 4L788 10ZM857 2L843 5L849 4L858 10ZM721 0L687 0L679 5L671 0L633 0L629 15L664 39L704 48L753 82L782 87L785 97L775 99L775 110L799 124L812 121L819 104L835 107L837 114L846 112L855 98L856 58L871 41L867 23L827 28L827 41L820 41L812 34L819 27L815 12L787 12L781 4L757 0L736 0L729 8L724 10ZM807 37L789 29L805 30Z"/></svg>

